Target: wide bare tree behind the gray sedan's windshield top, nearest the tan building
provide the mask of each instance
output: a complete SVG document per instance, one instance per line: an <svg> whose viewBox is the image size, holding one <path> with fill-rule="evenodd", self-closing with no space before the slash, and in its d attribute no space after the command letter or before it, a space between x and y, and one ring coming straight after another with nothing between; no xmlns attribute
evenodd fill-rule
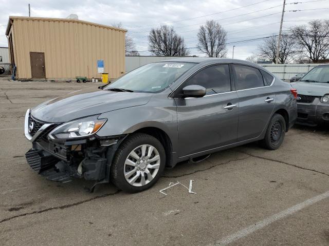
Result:
<svg viewBox="0 0 329 246"><path fill-rule="evenodd" d="M185 46L184 38L179 36L173 27L167 25L152 28L149 34L149 49L155 55L187 56L190 54Z"/></svg>

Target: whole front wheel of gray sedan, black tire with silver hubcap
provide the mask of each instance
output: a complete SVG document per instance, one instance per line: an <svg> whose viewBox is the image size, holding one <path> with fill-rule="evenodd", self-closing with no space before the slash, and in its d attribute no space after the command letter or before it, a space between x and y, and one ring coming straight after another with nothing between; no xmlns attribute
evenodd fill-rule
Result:
<svg viewBox="0 0 329 246"><path fill-rule="evenodd" d="M151 156L147 156L150 150ZM111 166L111 180L120 190L129 193L140 192L156 183L165 166L165 149L158 139L144 133L132 134L122 142L115 153Z"/></svg>

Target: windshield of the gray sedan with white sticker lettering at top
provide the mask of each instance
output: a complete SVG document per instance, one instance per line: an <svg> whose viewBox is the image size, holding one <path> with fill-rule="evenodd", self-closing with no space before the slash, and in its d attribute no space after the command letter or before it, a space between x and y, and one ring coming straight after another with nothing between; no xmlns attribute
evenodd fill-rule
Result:
<svg viewBox="0 0 329 246"><path fill-rule="evenodd" d="M123 89L133 92L156 93L164 90L194 65L193 63L172 61L151 63L127 73L104 87L104 90Z"/></svg>

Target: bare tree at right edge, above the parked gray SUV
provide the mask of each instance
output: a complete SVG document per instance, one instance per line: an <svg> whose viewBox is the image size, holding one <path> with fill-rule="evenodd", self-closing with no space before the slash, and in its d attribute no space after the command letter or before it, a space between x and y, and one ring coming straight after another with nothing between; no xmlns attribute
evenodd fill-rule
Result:
<svg viewBox="0 0 329 246"><path fill-rule="evenodd" d="M312 20L308 26L291 28L291 33L309 61L318 63L329 56L329 20Z"/></svg>

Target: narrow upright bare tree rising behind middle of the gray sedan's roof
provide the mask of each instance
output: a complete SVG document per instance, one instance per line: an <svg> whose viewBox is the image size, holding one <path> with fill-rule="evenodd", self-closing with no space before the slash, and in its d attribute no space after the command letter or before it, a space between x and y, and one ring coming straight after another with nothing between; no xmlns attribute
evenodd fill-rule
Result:
<svg viewBox="0 0 329 246"><path fill-rule="evenodd" d="M197 33L199 51L209 57L224 57L226 49L226 31L214 20L207 20L205 26L200 26Z"/></svg>

